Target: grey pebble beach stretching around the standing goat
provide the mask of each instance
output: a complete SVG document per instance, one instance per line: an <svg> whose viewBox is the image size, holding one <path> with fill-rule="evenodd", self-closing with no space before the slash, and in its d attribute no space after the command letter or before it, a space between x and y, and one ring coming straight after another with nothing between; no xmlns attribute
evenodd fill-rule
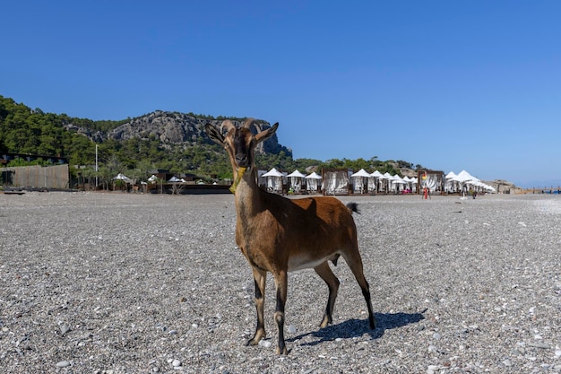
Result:
<svg viewBox="0 0 561 374"><path fill-rule="evenodd" d="M377 328L341 259L289 274L275 354L255 329L232 195L0 194L0 372L561 372L561 197L337 196L356 202Z"/></svg>

